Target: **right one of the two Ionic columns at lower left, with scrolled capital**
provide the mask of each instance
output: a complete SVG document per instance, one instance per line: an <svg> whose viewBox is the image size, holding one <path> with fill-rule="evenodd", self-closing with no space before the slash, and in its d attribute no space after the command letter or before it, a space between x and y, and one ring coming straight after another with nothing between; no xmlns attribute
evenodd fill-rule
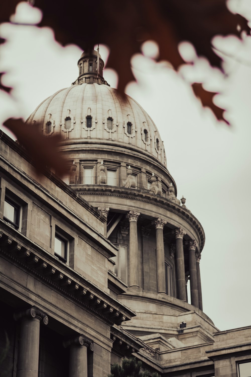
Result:
<svg viewBox="0 0 251 377"><path fill-rule="evenodd" d="M84 335L65 340L64 348L70 348L69 377L87 377L87 348L93 351L93 342Z"/></svg>

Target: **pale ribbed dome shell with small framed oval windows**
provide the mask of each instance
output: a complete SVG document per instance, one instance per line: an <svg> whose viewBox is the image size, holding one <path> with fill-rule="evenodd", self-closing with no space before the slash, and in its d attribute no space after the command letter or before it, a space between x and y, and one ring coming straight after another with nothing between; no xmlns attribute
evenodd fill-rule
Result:
<svg viewBox="0 0 251 377"><path fill-rule="evenodd" d="M100 144L102 139L110 139L123 143L123 147L124 143L130 144L166 166L160 134L145 110L128 95L120 98L116 89L95 83L95 78L93 81L59 90L44 100L27 122L42 121L42 132L48 136L61 133L63 139L93 138L100 139ZM91 127L87 116L91 116ZM110 124L108 118L112 120Z"/></svg>

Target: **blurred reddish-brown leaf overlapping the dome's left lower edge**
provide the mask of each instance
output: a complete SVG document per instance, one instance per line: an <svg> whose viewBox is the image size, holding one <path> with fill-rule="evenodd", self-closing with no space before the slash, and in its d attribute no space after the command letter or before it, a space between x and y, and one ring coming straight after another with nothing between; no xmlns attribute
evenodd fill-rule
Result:
<svg viewBox="0 0 251 377"><path fill-rule="evenodd" d="M10 118L5 121L4 126L8 127L18 138L19 143L27 150L32 157L39 172L47 167L54 167L60 174L65 172L65 160L58 153L58 143L61 140L59 135L42 136L38 126L24 123L22 119Z"/></svg>

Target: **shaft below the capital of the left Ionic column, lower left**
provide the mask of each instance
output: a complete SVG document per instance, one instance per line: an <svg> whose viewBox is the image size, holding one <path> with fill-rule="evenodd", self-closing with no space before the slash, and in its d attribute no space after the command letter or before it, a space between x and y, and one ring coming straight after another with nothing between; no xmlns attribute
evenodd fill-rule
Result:
<svg viewBox="0 0 251 377"><path fill-rule="evenodd" d="M22 318L17 377L38 377L39 318Z"/></svg>

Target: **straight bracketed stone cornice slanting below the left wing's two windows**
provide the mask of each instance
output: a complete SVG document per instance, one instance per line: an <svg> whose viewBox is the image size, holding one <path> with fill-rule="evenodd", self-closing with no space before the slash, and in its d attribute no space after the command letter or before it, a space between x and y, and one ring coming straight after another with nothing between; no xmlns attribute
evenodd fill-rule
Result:
<svg viewBox="0 0 251 377"><path fill-rule="evenodd" d="M15 230L13 229L13 231ZM18 236L21 235L19 232L17 233ZM20 242L20 239L9 234L8 230L3 228L0 230L0 253L12 263L14 262L41 279L45 284L78 302L85 310L96 314L110 325L114 323L120 325L135 316L134 312L118 300L59 262L51 254L44 255L43 249L40 249L40 253L38 253L27 242Z"/></svg>

